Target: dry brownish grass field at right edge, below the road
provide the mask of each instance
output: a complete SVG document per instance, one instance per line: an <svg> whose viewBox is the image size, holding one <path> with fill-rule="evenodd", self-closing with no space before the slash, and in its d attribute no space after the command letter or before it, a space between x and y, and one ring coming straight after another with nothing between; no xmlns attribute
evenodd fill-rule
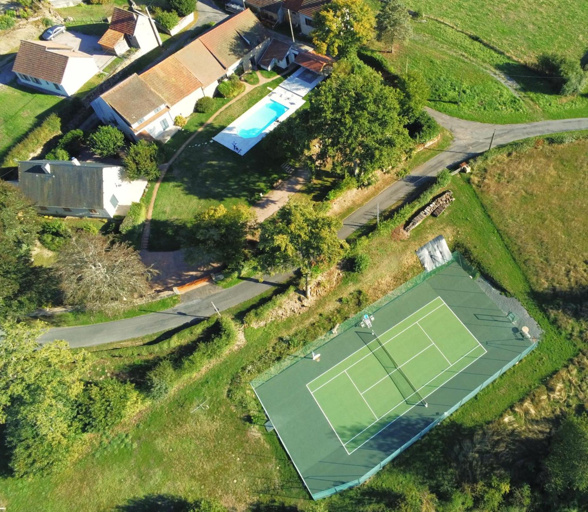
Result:
<svg viewBox="0 0 588 512"><path fill-rule="evenodd" d="M533 291L565 310L588 290L586 176L586 139L500 154L472 175Z"/></svg>

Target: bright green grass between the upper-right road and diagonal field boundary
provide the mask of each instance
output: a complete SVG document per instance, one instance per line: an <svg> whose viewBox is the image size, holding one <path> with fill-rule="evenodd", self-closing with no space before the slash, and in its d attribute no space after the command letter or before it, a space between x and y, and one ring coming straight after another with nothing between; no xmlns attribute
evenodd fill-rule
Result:
<svg viewBox="0 0 588 512"><path fill-rule="evenodd" d="M394 54L383 55L397 72L405 71L408 65L423 74L431 88L431 108L463 119L496 123L588 116L587 94L554 94L550 80L533 69L434 20L415 22L413 28L412 39L398 45Z"/></svg>

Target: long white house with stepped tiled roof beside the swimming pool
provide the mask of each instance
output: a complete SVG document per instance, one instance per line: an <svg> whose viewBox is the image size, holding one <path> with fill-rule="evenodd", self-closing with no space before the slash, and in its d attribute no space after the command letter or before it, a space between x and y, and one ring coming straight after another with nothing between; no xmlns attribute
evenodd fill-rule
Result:
<svg viewBox="0 0 588 512"><path fill-rule="evenodd" d="M188 117L199 98L212 97L219 82L239 65L257 65L269 35L246 9L205 32L141 75L115 85L92 101L96 115L132 140L166 141L177 115Z"/></svg>

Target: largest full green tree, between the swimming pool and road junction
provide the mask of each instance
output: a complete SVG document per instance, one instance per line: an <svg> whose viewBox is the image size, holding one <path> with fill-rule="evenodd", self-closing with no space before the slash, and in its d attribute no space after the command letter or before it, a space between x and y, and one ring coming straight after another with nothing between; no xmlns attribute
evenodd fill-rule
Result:
<svg viewBox="0 0 588 512"><path fill-rule="evenodd" d="M400 92L359 61L343 59L310 97L308 128L318 165L339 174L369 174L402 161L411 147Z"/></svg>

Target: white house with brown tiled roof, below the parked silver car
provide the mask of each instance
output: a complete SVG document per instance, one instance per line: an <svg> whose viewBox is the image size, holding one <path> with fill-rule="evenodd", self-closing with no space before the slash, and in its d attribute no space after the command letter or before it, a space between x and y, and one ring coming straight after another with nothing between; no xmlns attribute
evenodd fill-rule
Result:
<svg viewBox="0 0 588 512"><path fill-rule="evenodd" d="M12 71L21 84L71 96L98 73L91 55L55 41L21 41Z"/></svg>

